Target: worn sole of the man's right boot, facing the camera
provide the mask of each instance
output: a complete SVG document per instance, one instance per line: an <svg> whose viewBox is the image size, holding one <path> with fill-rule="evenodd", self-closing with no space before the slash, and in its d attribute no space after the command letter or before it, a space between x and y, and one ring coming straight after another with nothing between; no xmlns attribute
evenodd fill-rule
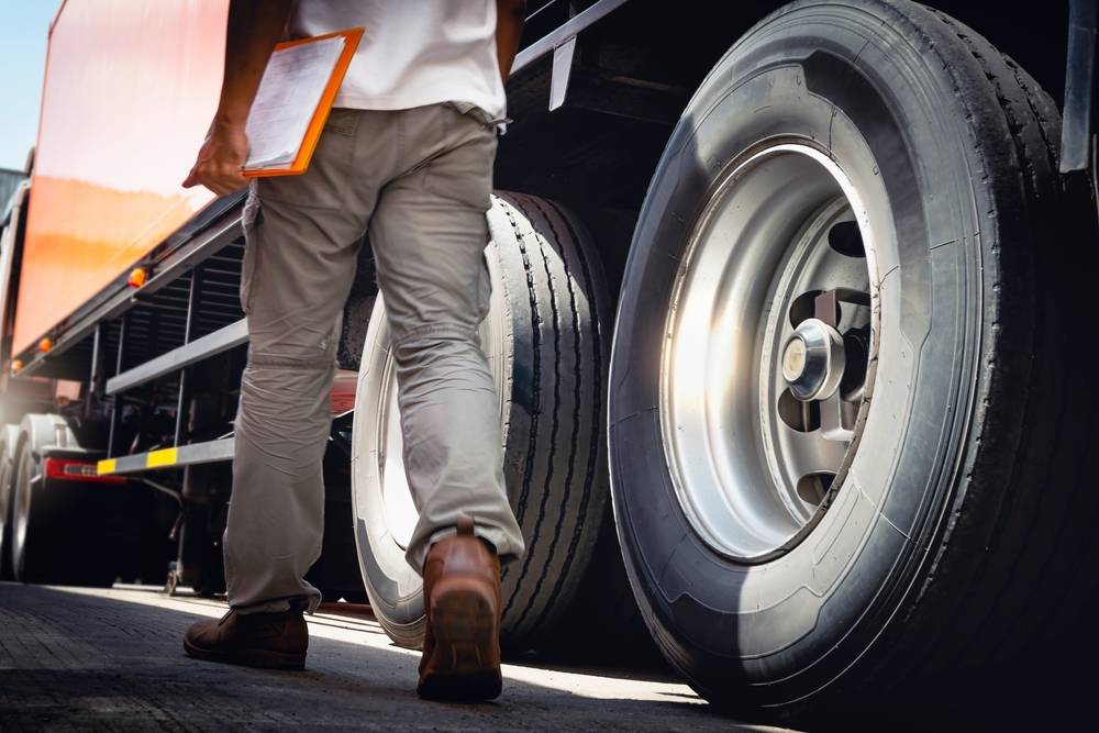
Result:
<svg viewBox="0 0 1099 733"><path fill-rule="evenodd" d="M491 700L503 681L496 609L484 587L462 578L442 580L432 593L435 649L417 692L433 700Z"/></svg>

